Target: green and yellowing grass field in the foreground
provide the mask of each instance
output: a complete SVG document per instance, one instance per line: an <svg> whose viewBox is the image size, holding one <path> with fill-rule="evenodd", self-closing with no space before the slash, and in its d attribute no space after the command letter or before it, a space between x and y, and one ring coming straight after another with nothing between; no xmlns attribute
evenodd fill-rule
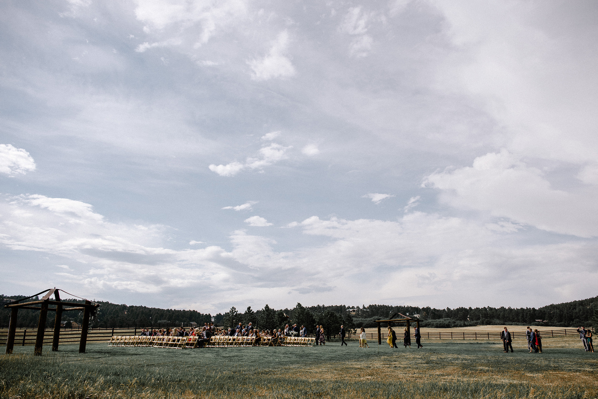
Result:
<svg viewBox="0 0 598 399"><path fill-rule="evenodd" d="M504 354L495 342L423 349L108 348L0 356L0 398L595 398L598 357L579 348Z"/></svg>

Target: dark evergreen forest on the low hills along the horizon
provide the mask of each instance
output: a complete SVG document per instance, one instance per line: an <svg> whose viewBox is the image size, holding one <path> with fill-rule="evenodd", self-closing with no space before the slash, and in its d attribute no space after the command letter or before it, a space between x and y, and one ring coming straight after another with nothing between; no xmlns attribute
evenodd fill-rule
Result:
<svg viewBox="0 0 598 399"><path fill-rule="evenodd" d="M0 295L0 304L20 299L24 296ZM30 300L35 300L32 298ZM69 302L81 300L68 299ZM312 332L316 324L323 325L327 332L340 329L341 324L347 328L376 327L374 321L398 317L400 314L423 320L422 327L465 327L481 324L520 324L530 326L557 327L598 327L598 296L542 306L541 308L446 308L435 309L417 306L392 305L316 305L303 306L297 303L292 309L273 309L265 305L262 309L253 310L251 306L244 312L231 308L224 314L202 314L194 310L148 308L147 306L117 305L110 302L97 302L101 306L90 320L91 327L112 327L123 325L157 326L159 324L203 325L213 321L217 326L233 327L239 323L252 323L263 329L284 327L286 323L297 323ZM33 326L38 322L37 311L22 309L19 311L19 325ZM62 320L81 322L83 312L68 312ZM8 326L10 310L0 308L0 326ZM54 324L54 317L49 314L47 326Z"/></svg>

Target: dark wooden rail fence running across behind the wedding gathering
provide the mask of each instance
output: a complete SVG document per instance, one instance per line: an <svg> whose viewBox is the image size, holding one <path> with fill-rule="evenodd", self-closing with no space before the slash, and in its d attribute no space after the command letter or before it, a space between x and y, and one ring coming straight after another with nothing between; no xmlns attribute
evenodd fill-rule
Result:
<svg viewBox="0 0 598 399"><path fill-rule="evenodd" d="M89 333L87 333L87 342L108 342L111 340L111 337L114 335L119 336L136 336L141 334L141 329L149 329L150 326L147 327L133 327L133 328L105 328L102 327L100 329L91 329ZM25 345L34 345L35 344L35 329L17 329L16 337L14 340L15 346L25 346ZM588 329L595 333L594 329ZM411 330L413 334L413 330ZM541 336L543 338L547 337L579 337L579 333L576 332L575 329L562 329L562 330L539 330ZM483 332L456 332L456 331L447 331L447 332L426 332L425 329L422 329L422 339L501 339L501 332L500 330L495 333L483 333ZM8 332L7 330L0 331L0 345L6 345ZM314 337L314 334L308 334L308 337ZM377 333L366 333L368 339L378 339ZM386 334L383 335L384 337ZM51 344L53 337L53 330L46 329L44 333L44 344ZM78 343L81 337L81 330L61 330L60 331L60 343ZM332 337L339 338L338 334L333 334ZM352 337L357 338L358 334L353 334ZM512 339L525 339L526 333L525 332L511 332ZM347 334L347 339L349 339L349 334Z"/></svg>

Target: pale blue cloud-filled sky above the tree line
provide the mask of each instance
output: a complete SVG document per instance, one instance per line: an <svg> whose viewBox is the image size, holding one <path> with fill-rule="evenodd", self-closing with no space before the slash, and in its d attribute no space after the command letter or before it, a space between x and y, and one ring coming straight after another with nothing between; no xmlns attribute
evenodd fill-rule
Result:
<svg viewBox="0 0 598 399"><path fill-rule="evenodd" d="M1 293L212 314L598 294L596 2L0 9Z"/></svg>

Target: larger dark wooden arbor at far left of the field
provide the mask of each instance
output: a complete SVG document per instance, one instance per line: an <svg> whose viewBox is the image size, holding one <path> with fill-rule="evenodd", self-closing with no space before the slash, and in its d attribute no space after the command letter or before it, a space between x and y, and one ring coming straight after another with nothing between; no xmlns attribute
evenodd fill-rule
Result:
<svg viewBox="0 0 598 399"><path fill-rule="evenodd" d="M62 300L60 300L60 295L58 291L61 290L57 288L47 289L45 291L41 291L40 293L26 298L13 300L13 302L8 303L8 305L4 305L4 308L11 309L10 324L8 324L8 337L6 340L7 354L13 353L14 336L17 330L17 313L19 312L19 309L32 309L39 311L38 331L37 336L35 337L35 350L33 351L33 354L35 355L41 355L41 349L44 345L45 320L47 318L48 311L56 312L56 321L54 321L54 336L52 339L53 351L58 350L58 342L60 339L60 320L62 319L62 312L83 311L83 324L81 324L81 340L79 342L79 353L85 353L85 347L87 345L87 329L89 329L89 317L91 315L91 312L100 305L97 303L92 303L87 299L85 300L85 303L63 302ZM38 296L39 294L43 293L46 294L40 300L34 300L32 302L23 303L21 302L23 300L30 299L34 296ZM52 294L54 294L55 300L50 300L50 296L52 296ZM50 308L50 305L54 305L56 306L56 308ZM65 305L74 307L63 308L63 306Z"/></svg>

